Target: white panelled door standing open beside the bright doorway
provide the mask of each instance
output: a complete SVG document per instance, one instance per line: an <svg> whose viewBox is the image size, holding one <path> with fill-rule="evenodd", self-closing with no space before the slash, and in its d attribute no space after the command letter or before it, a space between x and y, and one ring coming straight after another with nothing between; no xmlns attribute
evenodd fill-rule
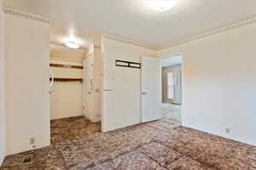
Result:
<svg viewBox="0 0 256 170"><path fill-rule="evenodd" d="M161 65L160 59L142 59L142 122L161 118Z"/></svg>

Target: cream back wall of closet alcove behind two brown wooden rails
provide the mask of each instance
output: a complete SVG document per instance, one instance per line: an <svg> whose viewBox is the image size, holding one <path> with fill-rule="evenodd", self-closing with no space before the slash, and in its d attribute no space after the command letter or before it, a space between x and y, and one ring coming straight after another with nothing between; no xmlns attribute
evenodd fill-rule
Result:
<svg viewBox="0 0 256 170"><path fill-rule="evenodd" d="M51 60L50 63L62 65L82 65L81 62ZM50 67L55 78L82 78L82 69ZM60 119L82 116L82 83L55 82L54 94L50 95L50 118Z"/></svg>

